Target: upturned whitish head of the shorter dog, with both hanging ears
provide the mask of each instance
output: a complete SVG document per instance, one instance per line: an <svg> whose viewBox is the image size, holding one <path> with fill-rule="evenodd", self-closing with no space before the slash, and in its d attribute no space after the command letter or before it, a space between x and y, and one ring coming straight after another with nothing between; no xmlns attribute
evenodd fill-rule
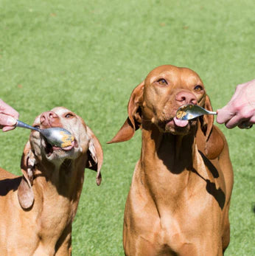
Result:
<svg viewBox="0 0 255 256"><path fill-rule="evenodd" d="M66 148L59 148L50 145L38 131L31 132L21 159L23 179L18 187L18 199L24 209L31 207L34 200L31 187L33 170L37 165L55 170L66 159L79 161L82 167L96 170L97 184L101 183L102 147L81 117L67 108L57 107L36 117L33 126L41 129L64 128L74 136L74 141Z"/></svg>

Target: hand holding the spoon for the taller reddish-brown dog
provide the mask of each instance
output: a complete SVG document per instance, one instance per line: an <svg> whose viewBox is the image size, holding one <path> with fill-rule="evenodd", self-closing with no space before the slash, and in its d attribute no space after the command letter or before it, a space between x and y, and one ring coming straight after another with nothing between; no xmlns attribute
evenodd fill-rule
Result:
<svg viewBox="0 0 255 256"><path fill-rule="evenodd" d="M217 110L217 122L226 128L247 128L255 123L255 79L237 86L226 106Z"/></svg>

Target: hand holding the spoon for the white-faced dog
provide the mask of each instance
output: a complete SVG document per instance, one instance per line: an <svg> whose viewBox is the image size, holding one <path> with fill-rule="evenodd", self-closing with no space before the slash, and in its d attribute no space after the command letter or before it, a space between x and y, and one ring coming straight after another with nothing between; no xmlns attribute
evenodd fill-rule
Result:
<svg viewBox="0 0 255 256"><path fill-rule="evenodd" d="M0 129L10 131L15 128L18 120L18 112L0 99Z"/></svg>

